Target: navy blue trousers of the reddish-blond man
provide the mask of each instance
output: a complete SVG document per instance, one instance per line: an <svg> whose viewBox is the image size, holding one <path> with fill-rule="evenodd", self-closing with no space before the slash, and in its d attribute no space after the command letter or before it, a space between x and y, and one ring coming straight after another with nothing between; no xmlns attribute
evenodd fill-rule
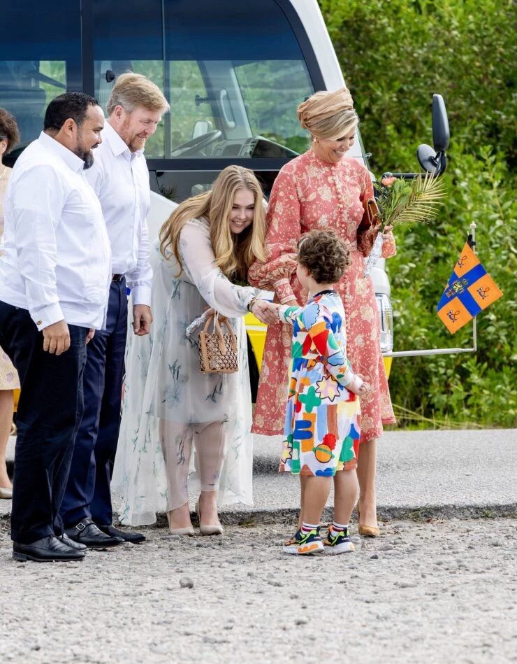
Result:
<svg viewBox="0 0 517 664"><path fill-rule="evenodd" d="M61 504L65 528L89 516L100 525L112 521L110 481L119 437L126 332L126 281L122 279L110 286L106 329L96 330L87 345L85 412Z"/></svg>

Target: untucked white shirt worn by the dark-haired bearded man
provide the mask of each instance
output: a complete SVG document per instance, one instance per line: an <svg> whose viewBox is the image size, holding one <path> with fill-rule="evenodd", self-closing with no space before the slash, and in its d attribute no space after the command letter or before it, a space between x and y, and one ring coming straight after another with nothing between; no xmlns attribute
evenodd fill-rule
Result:
<svg viewBox="0 0 517 664"><path fill-rule="evenodd" d="M59 320L105 325L110 241L83 167L82 159L42 132L10 176L0 300L28 309L38 330Z"/></svg>

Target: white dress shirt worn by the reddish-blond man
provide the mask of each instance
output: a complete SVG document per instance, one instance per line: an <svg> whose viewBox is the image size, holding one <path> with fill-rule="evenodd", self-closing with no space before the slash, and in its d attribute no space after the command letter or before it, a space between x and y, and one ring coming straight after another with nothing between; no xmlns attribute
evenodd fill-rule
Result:
<svg viewBox="0 0 517 664"><path fill-rule="evenodd" d="M151 207L149 171L143 150L131 153L106 122L102 143L87 180L101 202L111 243L111 271L125 274L133 304L151 304L147 213Z"/></svg>

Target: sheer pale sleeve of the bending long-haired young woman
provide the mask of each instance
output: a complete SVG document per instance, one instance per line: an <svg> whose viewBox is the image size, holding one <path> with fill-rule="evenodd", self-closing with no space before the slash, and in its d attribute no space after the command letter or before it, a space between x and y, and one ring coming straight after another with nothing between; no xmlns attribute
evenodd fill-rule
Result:
<svg viewBox="0 0 517 664"><path fill-rule="evenodd" d="M215 262L210 234L201 222L192 220L182 228L180 254L185 273L208 306L229 318L247 313L256 289L235 285L224 276Z"/></svg>

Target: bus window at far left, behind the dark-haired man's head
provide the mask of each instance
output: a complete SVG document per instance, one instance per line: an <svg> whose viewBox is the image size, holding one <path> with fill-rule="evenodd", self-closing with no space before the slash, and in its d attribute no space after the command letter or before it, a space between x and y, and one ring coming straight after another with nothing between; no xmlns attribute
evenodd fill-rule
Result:
<svg viewBox="0 0 517 664"><path fill-rule="evenodd" d="M26 146L43 129L48 103L81 90L80 0L46 3L44 20L38 0L5 3L1 18L0 106L15 116Z"/></svg>

